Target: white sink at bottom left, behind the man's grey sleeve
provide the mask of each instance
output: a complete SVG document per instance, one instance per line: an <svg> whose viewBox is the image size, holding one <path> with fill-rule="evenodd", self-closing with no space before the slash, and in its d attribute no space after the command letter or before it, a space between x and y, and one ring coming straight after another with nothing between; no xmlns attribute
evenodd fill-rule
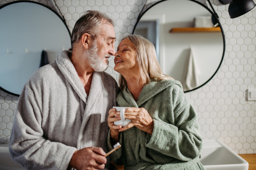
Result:
<svg viewBox="0 0 256 170"><path fill-rule="evenodd" d="M9 154L9 144L0 144L0 170L25 170L12 160Z"/></svg>

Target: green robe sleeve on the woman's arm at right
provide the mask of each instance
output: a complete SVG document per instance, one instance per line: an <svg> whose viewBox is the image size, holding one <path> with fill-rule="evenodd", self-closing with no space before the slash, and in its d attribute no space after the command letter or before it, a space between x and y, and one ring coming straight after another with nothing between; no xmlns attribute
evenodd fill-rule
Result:
<svg viewBox="0 0 256 170"><path fill-rule="evenodd" d="M154 130L146 136L146 147L181 161L195 159L203 145L196 111L179 86L175 85L170 95L173 112L165 114L167 119L173 116L175 125L154 119Z"/></svg>

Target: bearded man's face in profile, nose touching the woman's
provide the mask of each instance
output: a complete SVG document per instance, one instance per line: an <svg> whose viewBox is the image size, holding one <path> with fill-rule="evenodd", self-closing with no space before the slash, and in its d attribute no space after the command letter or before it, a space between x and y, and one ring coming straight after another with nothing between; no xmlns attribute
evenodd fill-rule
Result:
<svg viewBox="0 0 256 170"><path fill-rule="evenodd" d="M108 63L110 55L115 55L114 42L116 41L114 27L110 23L102 24L99 36L96 39L98 56Z"/></svg>

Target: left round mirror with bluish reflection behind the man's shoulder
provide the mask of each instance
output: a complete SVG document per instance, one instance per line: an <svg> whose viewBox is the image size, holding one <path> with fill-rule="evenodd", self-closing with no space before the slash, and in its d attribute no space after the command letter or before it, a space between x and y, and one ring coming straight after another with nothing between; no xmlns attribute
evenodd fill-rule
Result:
<svg viewBox="0 0 256 170"><path fill-rule="evenodd" d="M55 11L32 1L1 6L0 23L0 89L19 96L42 62L70 48L70 31Z"/></svg>

